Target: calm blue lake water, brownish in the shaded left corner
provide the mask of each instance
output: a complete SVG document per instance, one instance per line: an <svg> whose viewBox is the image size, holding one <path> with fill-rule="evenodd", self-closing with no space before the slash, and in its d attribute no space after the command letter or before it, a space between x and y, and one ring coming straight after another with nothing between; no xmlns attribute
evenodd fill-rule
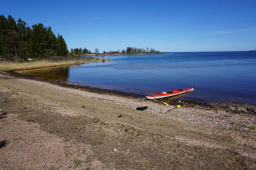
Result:
<svg viewBox="0 0 256 170"><path fill-rule="evenodd" d="M182 99L256 104L256 52L108 57L114 60L38 69L29 74L135 94L187 89L195 85L195 92Z"/></svg>

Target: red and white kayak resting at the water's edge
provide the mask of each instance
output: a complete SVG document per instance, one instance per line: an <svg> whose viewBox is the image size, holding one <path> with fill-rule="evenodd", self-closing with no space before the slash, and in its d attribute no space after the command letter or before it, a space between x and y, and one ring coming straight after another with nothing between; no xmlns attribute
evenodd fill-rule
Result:
<svg viewBox="0 0 256 170"><path fill-rule="evenodd" d="M176 96L176 95L179 95L179 94L184 94L186 92L193 92L193 91L194 91L194 87L189 88L189 89L173 90L173 91L170 91L170 92L161 92L159 94L153 94L153 95L146 96L146 97L150 100L154 100L154 99L161 99L161 98L164 98L164 97Z"/></svg>

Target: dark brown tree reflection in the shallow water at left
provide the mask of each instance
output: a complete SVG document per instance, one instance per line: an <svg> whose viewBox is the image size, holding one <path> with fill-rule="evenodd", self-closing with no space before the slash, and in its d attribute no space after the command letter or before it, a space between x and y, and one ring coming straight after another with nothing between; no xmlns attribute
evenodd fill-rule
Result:
<svg viewBox="0 0 256 170"><path fill-rule="evenodd" d="M50 80L61 80L67 81L69 77L70 67L54 67L54 68L45 68L45 69L35 69L31 71L21 71L22 74L33 74L41 78L47 78Z"/></svg>

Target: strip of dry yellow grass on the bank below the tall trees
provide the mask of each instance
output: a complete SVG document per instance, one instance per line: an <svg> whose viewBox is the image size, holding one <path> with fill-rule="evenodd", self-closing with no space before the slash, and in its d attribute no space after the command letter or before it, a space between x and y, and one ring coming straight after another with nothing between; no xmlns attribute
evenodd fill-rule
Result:
<svg viewBox="0 0 256 170"><path fill-rule="evenodd" d="M102 62L102 60L103 59L92 58L87 60L60 60L60 61L40 60L40 61L33 61L33 62L0 62L0 71L69 66L69 65L75 65L75 64L82 64L84 62Z"/></svg>

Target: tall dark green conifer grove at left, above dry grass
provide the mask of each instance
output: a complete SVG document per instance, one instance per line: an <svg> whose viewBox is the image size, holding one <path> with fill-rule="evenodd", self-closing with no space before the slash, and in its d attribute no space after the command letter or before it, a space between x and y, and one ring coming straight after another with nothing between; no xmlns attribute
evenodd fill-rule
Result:
<svg viewBox="0 0 256 170"><path fill-rule="evenodd" d="M31 27L22 19L0 15L0 58L8 60L43 59L53 55L67 56L65 39L51 27L38 23Z"/></svg>

